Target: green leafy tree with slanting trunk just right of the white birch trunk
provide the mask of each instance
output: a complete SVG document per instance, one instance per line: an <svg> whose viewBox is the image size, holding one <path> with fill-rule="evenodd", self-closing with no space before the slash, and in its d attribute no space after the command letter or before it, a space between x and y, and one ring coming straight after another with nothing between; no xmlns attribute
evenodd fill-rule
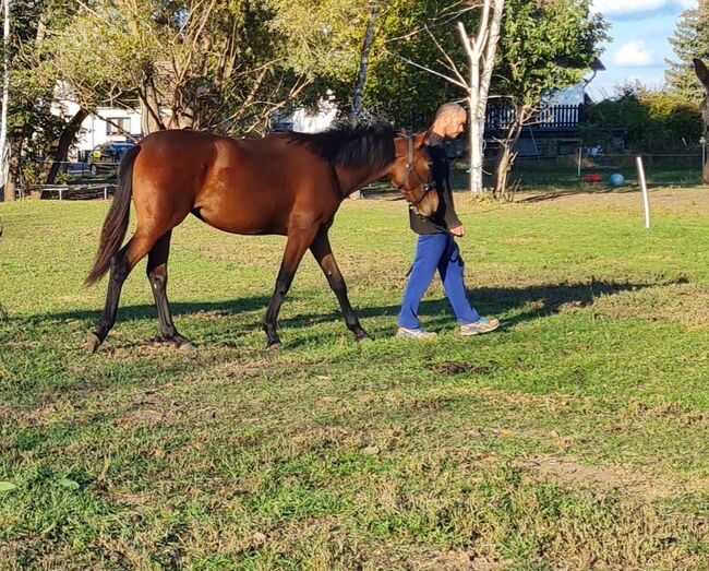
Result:
<svg viewBox="0 0 709 571"><path fill-rule="evenodd" d="M495 90L513 109L500 141L493 195L507 190L521 129L536 121L543 97L581 80L600 55L606 23L590 14L591 0L507 0Z"/></svg>

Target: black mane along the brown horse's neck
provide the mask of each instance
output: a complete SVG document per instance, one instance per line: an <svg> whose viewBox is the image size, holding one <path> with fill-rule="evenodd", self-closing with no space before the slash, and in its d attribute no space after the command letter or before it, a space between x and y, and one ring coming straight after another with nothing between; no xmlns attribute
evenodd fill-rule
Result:
<svg viewBox="0 0 709 571"><path fill-rule="evenodd" d="M288 139L335 166L381 168L395 158L394 138L397 134L387 124L375 124L336 127L322 133L288 133Z"/></svg>

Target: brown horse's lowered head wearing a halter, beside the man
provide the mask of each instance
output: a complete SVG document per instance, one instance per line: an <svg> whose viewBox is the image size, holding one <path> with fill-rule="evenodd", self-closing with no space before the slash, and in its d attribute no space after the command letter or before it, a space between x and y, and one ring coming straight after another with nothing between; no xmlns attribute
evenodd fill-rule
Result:
<svg viewBox="0 0 709 571"><path fill-rule="evenodd" d="M389 170L392 183L399 188L419 216L433 216L438 210L438 193L431 179L431 158L425 150L425 131L394 140L396 159Z"/></svg>

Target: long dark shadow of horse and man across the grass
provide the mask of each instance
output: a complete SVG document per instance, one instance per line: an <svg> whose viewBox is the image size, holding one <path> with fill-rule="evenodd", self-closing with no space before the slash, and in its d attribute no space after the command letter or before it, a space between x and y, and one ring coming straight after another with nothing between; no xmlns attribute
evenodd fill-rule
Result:
<svg viewBox="0 0 709 571"><path fill-rule="evenodd" d="M676 285L687 283L686 278L674 281L662 281L657 283L632 283L614 281L594 281L586 283L560 283L560 284L540 284L528 287L482 287L469 292L469 299L472 305L485 316L505 314L507 312L516 313L515 317L505 319L505 326L514 326L517 323L538 319L540 317L552 316L557 313L563 307L588 307L602 296L617 295L623 292L633 292L646 289L648 287ZM328 290L323 289L323 293ZM331 294L332 295L332 294ZM332 296L333 305L336 306L335 297ZM357 299L352 300L357 302ZM192 316L199 318L200 313L205 313L209 319L219 319L230 314L241 312L257 311L257 319L253 323L242 325L245 330L260 330L261 318L265 313L268 298L265 296L254 296L236 299L233 301L209 301L209 302L173 302L170 305L173 316ZM285 304L288 304L286 299ZM374 306L356 309L359 318L389 317L394 321L398 314L398 305ZM455 319L450 312L449 306L445 298L438 300L424 300L421 302L419 314L433 325L443 325L454 323ZM29 319L17 319L17 321L37 322L45 320L86 320L94 322L99 317L98 308L96 310L69 311L60 313L46 313L34 316ZM433 320L432 317L435 317ZM428 318L428 319L426 319ZM10 318L13 320L13 318ZM139 305L120 307L118 312L118 326L121 321L127 320L156 320L157 313L153 305ZM339 311L301 313L293 317L286 317L279 320L283 328L301 329L319 323L327 323L341 320ZM366 326L366 322L363 323ZM189 336L189 331L184 331Z"/></svg>

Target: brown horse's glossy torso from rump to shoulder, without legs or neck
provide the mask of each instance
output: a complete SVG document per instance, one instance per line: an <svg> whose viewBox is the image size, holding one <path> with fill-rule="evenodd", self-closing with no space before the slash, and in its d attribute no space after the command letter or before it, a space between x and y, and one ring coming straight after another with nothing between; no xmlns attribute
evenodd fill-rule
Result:
<svg viewBox="0 0 709 571"><path fill-rule="evenodd" d="M287 135L161 131L141 147L134 181L143 190L134 199L175 211L173 218L193 212L225 231L287 234L293 213L327 217L339 203L327 163Z"/></svg>

